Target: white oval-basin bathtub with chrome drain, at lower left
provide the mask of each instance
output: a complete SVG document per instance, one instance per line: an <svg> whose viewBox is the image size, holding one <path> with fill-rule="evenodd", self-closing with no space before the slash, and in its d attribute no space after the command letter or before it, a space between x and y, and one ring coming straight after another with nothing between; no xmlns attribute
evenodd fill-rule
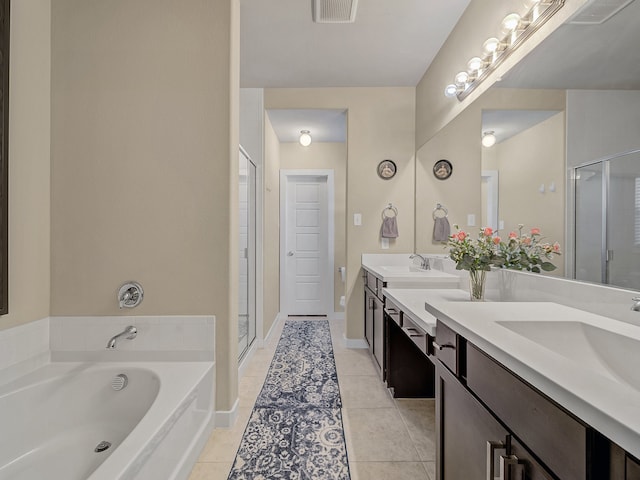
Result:
<svg viewBox="0 0 640 480"><path fill-rule="evenodd" d="M186 478L213 427L213 372L213 362L52 362L0 386L0 479Z"/></svg>

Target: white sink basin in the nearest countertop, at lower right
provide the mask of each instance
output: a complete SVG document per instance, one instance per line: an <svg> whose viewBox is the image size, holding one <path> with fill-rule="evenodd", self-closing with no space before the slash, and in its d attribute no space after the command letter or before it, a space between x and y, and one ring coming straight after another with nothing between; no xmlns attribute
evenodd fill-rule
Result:
<svg viewBox="0 0 640 480"><path fill-rule="evenodd" d="M585 368L640 391L640 340L582 322L497 321Z"/></svg>

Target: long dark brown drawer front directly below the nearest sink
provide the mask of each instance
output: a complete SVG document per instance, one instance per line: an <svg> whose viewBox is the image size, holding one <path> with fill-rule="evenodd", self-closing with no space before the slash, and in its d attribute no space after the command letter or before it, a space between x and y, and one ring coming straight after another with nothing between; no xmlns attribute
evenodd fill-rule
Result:
<svg viewBox="0 0 640 480"><path fill-rule="evenodd" d="M467 386L561 479L587 478L587 428L467 343Z"/></svg>

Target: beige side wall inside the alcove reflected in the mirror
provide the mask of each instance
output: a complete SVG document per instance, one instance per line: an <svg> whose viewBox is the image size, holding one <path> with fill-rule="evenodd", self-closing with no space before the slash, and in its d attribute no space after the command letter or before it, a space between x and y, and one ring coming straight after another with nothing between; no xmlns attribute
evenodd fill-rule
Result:
<svg viewBox="0 0 640 480"><path fill-rule="evenodd" d="M502 235L517 231L518 224L542 230L545 241L558 241L564 248L565 211L565 115L560 112L502 143L496 144L500 172L499 215L504 220ZM556 191L549 191L553 182ZM539 187L545 185L545 192ZM553 275L564 275L562 258Z"/></svg>

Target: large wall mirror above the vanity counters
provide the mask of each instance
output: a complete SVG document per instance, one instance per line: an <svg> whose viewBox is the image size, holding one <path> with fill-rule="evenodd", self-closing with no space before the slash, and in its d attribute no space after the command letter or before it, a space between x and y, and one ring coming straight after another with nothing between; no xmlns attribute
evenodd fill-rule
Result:
<svg viewBox="0 0 640 480"><path fill-rule="evenodd" d="M427 211L434 201L453 205L451 217L464 227L469 215L475 217L476 227L490 223L487 183L497 182L498 193L493 198L495 202L497 196L502 209L494 213L496 226L502 220L508 230L514 224L541 218L536 226L550 240L562 243L563 257L556 264L564 263L566 269L555 273L570 278L580 267L574 264L573 247L575 168L640 148L640 2L631 2L610 18L603 11L600 17L586 10L582 13L559 27L421 147L416 170L416 211ZM538 120L507 140L498 139L496 150L481 146L482 133L497 128L496 117L526 117L527 112L531 117L538 115ZM552 137L550 131L554 132ZM553 153L549 152L550 143L555 146ZM562 148L564 152L558 154ZM435 153L436 149L440 151ZM500 149L501 166L495 158ZM447 191L441 189L443 185L429 183L420 164L432 152L467 162L464 170L475 175L477 189L467 183ZM528 165L537 163L537 176L517 163L525 157ZM501 171L506 168L510 170ZM425 188L441 190L430 194L423 191ZM515 201L517 197L519 201ZM480 203L475 200L480 198L485 199L484 206L474 207L473 202ZM536 216L531 216L532 206L538 210ZM432 225L426 215L422 218L417 213L417 223L416 248L442 252L441 246L427 241Z"/></svg>

